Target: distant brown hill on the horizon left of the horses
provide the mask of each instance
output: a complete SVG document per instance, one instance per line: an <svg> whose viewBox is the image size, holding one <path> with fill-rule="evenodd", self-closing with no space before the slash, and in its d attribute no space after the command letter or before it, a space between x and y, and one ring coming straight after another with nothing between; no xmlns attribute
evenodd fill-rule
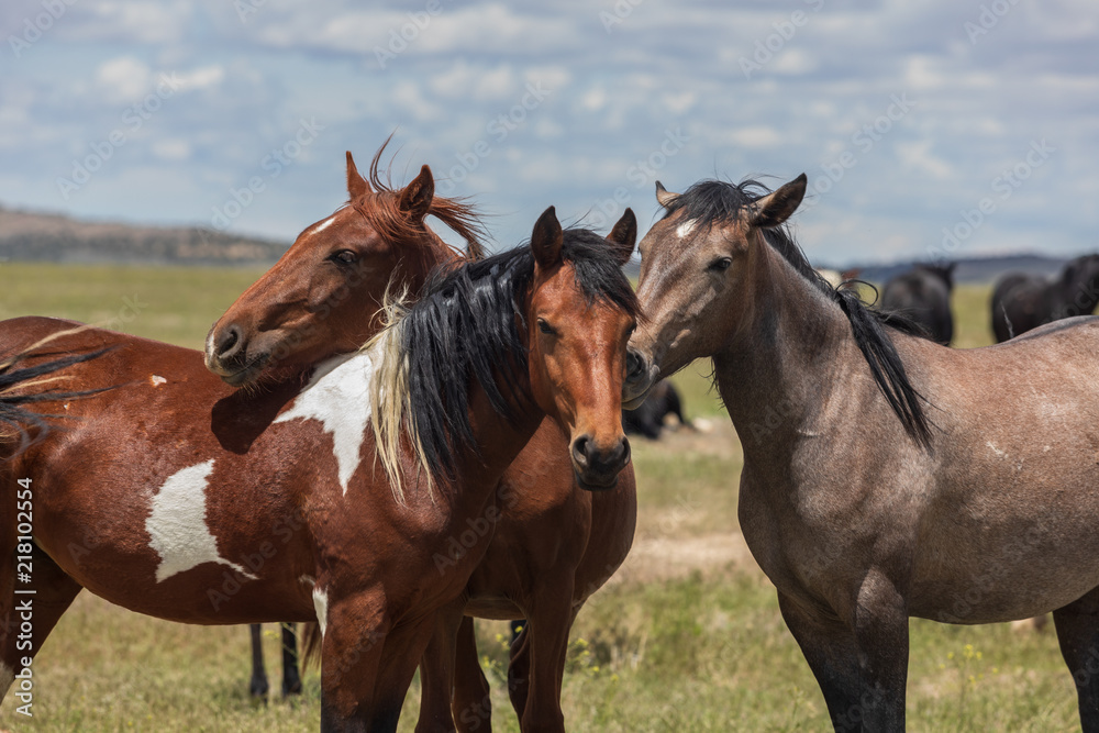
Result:
<svg viewBox="0 0 1099 733"><path fill-rule="evenodd" d="M0 207L0 262L268 265L289 246L199 226L89 222Z"/></svg>

